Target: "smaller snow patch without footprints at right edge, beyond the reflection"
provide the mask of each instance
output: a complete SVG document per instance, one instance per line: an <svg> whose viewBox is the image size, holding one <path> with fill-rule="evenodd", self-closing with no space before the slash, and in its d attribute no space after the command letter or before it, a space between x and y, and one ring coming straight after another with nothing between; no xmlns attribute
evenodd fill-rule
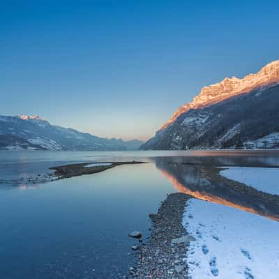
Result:
<svg viewBox="0 0 279 279"><path fill-rule="evenodd" d="M279 169L277 168L229 167L229 169L223 170L220 174L227 177L227 179L245 183L257 190L279 195Z"/></svg>

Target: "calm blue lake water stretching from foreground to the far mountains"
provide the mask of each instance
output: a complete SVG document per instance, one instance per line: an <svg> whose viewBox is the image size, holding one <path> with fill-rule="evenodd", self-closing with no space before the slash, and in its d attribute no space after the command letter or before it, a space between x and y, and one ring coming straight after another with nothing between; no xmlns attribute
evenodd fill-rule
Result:
<svg viewBox="0 0 279 279"><path fill-rule="evenodd" d="M43 184L21 180L56 165L126 160L150 163ZM193 164L278 167L279 152L0 151L0 278L121 276L133 264L130 246L137 243L128 233L149 235L148 214L167 193L199 191L203 182ZM221 192L230 195L224 187Z"/></svg>

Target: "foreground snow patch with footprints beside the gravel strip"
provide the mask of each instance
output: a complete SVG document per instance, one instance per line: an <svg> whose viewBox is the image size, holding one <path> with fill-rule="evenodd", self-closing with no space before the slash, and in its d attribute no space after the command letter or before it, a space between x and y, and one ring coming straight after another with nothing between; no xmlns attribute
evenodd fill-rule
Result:
<svg viewBox="0 0 279 279"><path fill-rule="evenodd" d="M191 279L278 279L279 223L199 199L187 202Z"/></svg>

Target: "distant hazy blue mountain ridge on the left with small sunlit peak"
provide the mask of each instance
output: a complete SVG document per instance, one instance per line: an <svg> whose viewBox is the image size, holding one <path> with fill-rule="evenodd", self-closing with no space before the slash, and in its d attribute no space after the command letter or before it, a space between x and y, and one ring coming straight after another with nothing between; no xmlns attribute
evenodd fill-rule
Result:
<svg viewBox="0 0 279 279"><path fill-rule="evenodd" d="M0 116L0 149L136 150L141 144L54 126L39 116Z"/></svg>

